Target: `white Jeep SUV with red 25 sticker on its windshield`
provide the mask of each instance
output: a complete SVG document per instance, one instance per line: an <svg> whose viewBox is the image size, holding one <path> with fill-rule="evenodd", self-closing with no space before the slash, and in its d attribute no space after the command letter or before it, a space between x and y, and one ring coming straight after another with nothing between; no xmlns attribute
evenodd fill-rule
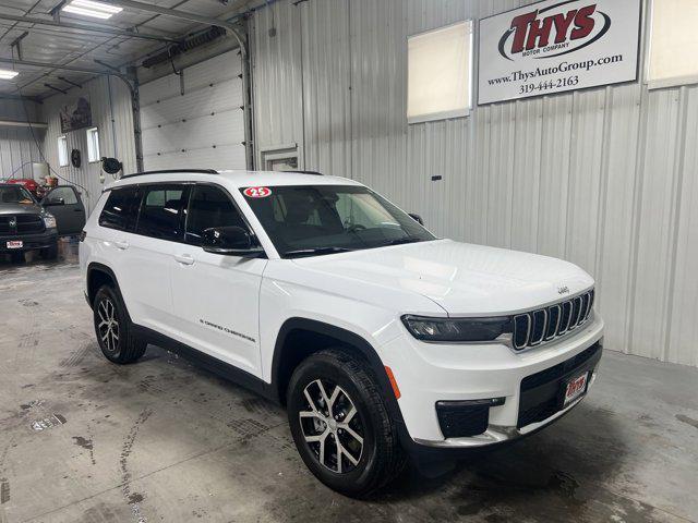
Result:
<svg viewBox="0 0 698 523"><path fill-rule="evenodd" d="M124 177L82 235L105 356L154 343L286 405L303 461L363 496L532 433L593 384L593 280L435 238L364 185L291 172Z"/></svg>

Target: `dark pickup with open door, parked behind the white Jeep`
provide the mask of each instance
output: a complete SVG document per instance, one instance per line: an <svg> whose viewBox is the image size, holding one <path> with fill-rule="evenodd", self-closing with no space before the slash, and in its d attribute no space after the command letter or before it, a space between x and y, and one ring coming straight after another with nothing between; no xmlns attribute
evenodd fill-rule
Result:
<svg viewBox="0 0 698 523"><path fill-rule="evenodd" d="M0 183L0 254L13 262L26 251L55 259L58 236L77 234L84 223L85 207L70 185L53 188L39 204L23 185Z"/></svg>

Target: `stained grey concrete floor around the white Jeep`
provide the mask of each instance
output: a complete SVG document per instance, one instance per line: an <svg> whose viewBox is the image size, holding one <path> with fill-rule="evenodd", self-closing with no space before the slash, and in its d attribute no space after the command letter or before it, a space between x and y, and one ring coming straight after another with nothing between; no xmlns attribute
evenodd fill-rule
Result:
<svg viewBox="0 0 698 523"><path fill-rule="evenodd" d="M606 352L559 423L371 501L317 483L285 413L151 346L99 353L76 245L0 260L0 522L698 520L698 369Z"/></svg>

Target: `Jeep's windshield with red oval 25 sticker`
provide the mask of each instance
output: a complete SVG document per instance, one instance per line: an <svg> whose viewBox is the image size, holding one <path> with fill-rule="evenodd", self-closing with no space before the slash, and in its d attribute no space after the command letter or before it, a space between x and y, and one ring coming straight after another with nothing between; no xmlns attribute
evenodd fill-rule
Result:
<svg viewBox="0 0 698 523"><path fill-rule="evenodd" d="M289 185L240 191L284 257L435 240L368 187Z"/></svg>

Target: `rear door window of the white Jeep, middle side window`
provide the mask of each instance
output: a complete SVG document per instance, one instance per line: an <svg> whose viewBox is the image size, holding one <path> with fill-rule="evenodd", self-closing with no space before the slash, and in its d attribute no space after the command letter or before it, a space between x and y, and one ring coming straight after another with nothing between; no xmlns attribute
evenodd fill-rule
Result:
<svg viewBox="0 0 698 523"><path fill-rule="evenodd" d="M161 240L182 236L181 217L186 209L186 185L151 185L142 190L143 202L136 233Z"/></svg>

